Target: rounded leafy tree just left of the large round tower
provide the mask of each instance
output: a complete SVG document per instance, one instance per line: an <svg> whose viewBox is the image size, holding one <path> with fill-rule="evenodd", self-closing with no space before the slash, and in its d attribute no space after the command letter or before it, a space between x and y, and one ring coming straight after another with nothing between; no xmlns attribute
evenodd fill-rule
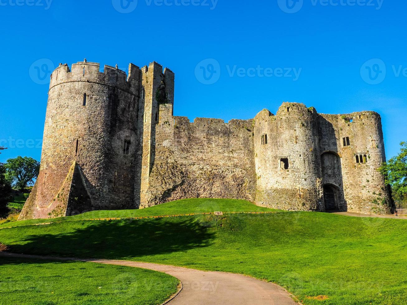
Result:
<svg viewBox="0 0 407 305"><path fill-rule="evenodd" d="M8 159L6 178L17 190L23 191L27 185L33 184L39 174L39 162L31 157Z"/></svg>

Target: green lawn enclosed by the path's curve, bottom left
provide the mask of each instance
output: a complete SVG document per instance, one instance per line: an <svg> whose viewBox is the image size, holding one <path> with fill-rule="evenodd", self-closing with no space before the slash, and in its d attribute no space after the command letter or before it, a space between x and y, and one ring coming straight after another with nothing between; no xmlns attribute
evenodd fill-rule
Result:
<svg viewBox="0 0 407 305"><path fill-rule="evenodd" d="M1 304L161 304L177 285L140 268L0 257Z"/></svg>

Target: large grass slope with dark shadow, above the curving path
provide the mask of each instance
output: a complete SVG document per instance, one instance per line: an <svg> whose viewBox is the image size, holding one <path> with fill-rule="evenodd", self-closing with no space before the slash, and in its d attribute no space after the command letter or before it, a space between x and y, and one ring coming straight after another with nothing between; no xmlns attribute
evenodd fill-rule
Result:
<svg viewBox="0 0 407 305"><path fill-rule="evenodd" d="M251 207L240 203L234 209ZM198 207L180 200L149 209L178 214L188 204L189 212L200 210L200 200ZM155 213L149 209L123 213ZM83 220L2 229L0 242L17 253L242 273L278 283L304 304L407 303L405 220L317 212Z"/></svg>

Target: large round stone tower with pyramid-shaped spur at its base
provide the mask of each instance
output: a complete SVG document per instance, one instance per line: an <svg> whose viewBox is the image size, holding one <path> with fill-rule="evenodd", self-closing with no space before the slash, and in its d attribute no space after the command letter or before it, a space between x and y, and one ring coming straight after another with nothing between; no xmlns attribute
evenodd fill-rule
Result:
<svg viewBox="0 0 407 305"><path fill-rule="evenodd" d="M135 208L141 71L86 60L52 73L41 168L20 215L50 218Z"/></svg>

